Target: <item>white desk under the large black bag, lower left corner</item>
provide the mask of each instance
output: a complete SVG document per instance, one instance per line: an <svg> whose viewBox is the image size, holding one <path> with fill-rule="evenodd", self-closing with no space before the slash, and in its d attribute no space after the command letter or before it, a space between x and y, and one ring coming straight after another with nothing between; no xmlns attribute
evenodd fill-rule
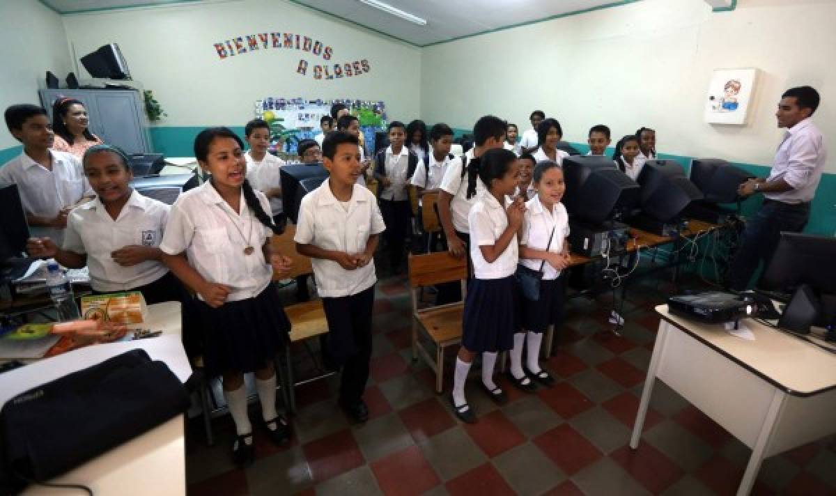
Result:
<svg viewBox="0 0 836 496"><path fill-rule="evenodd" d="M148 306L148 313L148 322L139 327L162 330L164 335L146 340L87 346L8 371L0 376L0 404L33 386L135 348L146 350L152 360L165 361L181 381L186 381L191 375L191 366L181 345L180 303L152 304ZM182 415L172 418L50 482L81 483L97 495L186 494L183 422ZM39 486L30 486L24 492L55 495L68 493L68 489Z"/></svg>

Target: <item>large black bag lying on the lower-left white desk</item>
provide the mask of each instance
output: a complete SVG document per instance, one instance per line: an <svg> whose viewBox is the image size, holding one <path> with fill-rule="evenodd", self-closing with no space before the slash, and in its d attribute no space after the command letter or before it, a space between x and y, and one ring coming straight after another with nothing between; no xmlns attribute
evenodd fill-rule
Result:
<svg viewBox="0 0 836 496"><path fill-rule="evenodd" d="M145 350L25 391L0 410L0 493L65 473L188 407L186 386Z"/></svg>

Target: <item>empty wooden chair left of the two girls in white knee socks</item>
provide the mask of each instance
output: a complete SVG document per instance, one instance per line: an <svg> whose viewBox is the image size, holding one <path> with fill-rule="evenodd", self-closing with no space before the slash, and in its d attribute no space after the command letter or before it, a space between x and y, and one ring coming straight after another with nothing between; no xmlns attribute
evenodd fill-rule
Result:
<svg viewBox="0 0 836 496"><path fill-rule="evenodd" d="M461 342L467 260L453 257L447 252L410 255L409 276L412 299L412 360L417 360L418 355L421 355L427 365L436 371L436 393L441 393L444 380L444 350ZM421 288L453 281L461 283L462 301L418 309ZM419 331L436 346L435 358L419 342Z"/></svg>

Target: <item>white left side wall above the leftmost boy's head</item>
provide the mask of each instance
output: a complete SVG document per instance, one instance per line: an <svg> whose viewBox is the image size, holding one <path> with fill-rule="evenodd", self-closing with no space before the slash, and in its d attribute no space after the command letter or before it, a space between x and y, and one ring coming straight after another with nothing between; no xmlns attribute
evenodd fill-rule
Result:
<svg viewBox="0 0 836 496"><path fill-rule="evenodd" d="M13 104L40 105L38 88L46 85L46 71L51 70L63 82L72 70L61 17L39 2L3 0L0 19L0 46L4 47L0 110ZM0 150L19 145L4 123Z"/></svg>

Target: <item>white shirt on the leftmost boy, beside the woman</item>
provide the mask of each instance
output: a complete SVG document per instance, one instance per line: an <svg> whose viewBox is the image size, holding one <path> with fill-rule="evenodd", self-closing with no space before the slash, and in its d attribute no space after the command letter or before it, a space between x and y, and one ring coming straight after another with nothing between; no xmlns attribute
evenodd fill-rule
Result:
<svg viewBox="0 0 836 496"><path fill-rule="evenodd" d="M25 152L6 162L0 167L0 187L17 184L25 212L54 218L62 208L94 193L76 156L55 150L50 150L49 154L52 171ZM30 230L33 236L52 238L59 246L64 240L64 229L33 226Z"/></svg>

